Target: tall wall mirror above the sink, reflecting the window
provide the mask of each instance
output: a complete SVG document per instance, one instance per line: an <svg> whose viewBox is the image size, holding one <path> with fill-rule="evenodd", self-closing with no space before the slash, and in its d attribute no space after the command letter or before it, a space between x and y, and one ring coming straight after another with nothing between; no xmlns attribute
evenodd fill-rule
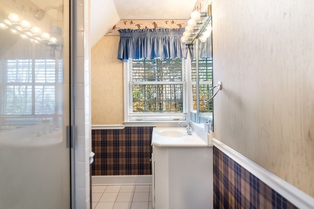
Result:
<svg viewBox="0 0 314 209"><path fill-rule="evenodd" d="M196 35L189 44L189 49L191 52L191 81L193 95L190 109L190 119L196 123L209 122L212 125L212 100L208 103L204 103L204 99L208 99L212 96L212 91L210 91L212 88L212 42L210 5L208 14L209 15L202 23L203 25L199 27Z"/></svg>

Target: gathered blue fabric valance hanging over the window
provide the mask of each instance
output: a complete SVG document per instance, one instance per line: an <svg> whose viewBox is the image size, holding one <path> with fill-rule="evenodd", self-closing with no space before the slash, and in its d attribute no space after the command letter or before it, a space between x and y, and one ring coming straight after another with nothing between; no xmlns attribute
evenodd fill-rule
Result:
<svg viewBox="0 0 314 209"><path fill-rule="evenodd" d="M118 59L186 58L184 28L119 29Z"/></svg>

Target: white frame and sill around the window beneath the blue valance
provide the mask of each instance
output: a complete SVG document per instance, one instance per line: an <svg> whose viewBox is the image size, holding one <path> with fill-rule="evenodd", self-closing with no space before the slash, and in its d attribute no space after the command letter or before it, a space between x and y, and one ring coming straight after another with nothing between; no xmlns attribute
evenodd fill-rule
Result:
<svg viewBox="0 0 314 209"><path fill-rule="evenodd" d="M131 62L132 59L123 60L124 69L124 123L129 125L152 125L152 124L173 124L178 123L178 121L188 120L189 112L189 78L188 78L188 61L183 58L182 63L182 81L153 81L156 84L183 84L183 112L182 113L134 113L132 112L132 85L133 84L148 84L151 82L141 81L141 82L131 82Z"/></svg>

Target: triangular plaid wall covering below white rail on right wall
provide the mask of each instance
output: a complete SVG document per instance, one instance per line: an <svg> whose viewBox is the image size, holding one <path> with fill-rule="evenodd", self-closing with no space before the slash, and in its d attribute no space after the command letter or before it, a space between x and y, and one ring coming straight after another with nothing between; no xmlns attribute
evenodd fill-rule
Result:
<svg viewBox="0 0 314 209"><path fill-rule="evenodd" d="M296 209L256 176L213 148L214 209Z"/></svg>

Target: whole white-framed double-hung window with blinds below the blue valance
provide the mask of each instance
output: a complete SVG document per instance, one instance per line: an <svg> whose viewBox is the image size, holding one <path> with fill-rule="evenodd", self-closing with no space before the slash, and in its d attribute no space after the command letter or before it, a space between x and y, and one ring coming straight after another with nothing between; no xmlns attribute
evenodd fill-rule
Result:
<svg viewBox="0 0 314 209"><path fill-rule="evenodd" d="M185 120L185 59L129 59L126 121Z"/></svg>

